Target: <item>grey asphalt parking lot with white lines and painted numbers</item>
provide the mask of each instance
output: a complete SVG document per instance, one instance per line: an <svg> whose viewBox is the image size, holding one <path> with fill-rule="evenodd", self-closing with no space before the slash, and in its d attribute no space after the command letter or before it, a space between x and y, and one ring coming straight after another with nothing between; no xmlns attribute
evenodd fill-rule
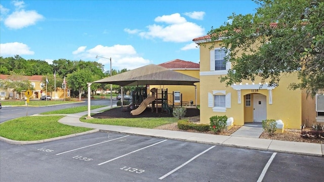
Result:
<svg viewBox="0 0 324 182"><path fill-rule="evenodd" d="M113 132L0 142L0 181L321 181L324 158Z"/></svg>

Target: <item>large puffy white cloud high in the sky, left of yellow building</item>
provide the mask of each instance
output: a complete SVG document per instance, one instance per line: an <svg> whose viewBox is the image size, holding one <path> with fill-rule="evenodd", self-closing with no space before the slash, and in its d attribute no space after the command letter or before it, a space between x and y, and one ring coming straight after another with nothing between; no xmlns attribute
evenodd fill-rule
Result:
<svg viewBox="0 0 324 182"><path fill-rule="evenodd" d="M194 37L205 35L203 27L188 22L179 13L156 17L155 22L161 24L148 25L148 30L138 31L138 35L147 39L159 38L166 42L188 42L192 41ZM127 30L129 33L136 32Z"/></svg>

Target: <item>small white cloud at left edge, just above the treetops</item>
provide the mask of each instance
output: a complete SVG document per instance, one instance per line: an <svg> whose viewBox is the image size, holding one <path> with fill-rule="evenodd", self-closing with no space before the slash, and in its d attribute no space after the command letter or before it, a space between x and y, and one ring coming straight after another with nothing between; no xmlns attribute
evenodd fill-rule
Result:
<svg viewBox="0 0 324 182"><path fill-rule="evenodd" d="M0 56L15 55L34 55L34 52L30 51L28 45L20 42L9 42L0 44Z"/></svg>

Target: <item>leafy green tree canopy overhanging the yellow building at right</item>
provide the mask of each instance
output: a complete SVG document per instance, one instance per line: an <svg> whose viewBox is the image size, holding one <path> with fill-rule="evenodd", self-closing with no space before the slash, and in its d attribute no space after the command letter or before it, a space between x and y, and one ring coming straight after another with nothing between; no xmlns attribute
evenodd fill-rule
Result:
<svg viewBox="0 0 324 182"><path fill-rule="evenodd" d="M228 23L212 28L211 40L221 39L232 67L221 77L226 85L269 80L277 86L282 74L297 73L291 89L314 96L324 89L323 0L255 0L256 13L232 14Z"/></svg>

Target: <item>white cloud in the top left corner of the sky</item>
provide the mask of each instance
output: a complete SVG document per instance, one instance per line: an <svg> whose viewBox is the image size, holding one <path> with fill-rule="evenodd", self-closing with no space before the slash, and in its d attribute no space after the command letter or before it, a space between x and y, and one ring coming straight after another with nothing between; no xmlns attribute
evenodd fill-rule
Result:
<svg viewBox="0 0 324 182"><path fill-rule="evenodd" d="M13 1L12 2L16 10L9 13L9 10L1 6L1 21L4 21L5 25L12 29L21 29L28 27L30 25L35 25L37 21L44 19L44 16L38 14L34 10L26 11L24 10L25 3L23 1Z"/></svg>

